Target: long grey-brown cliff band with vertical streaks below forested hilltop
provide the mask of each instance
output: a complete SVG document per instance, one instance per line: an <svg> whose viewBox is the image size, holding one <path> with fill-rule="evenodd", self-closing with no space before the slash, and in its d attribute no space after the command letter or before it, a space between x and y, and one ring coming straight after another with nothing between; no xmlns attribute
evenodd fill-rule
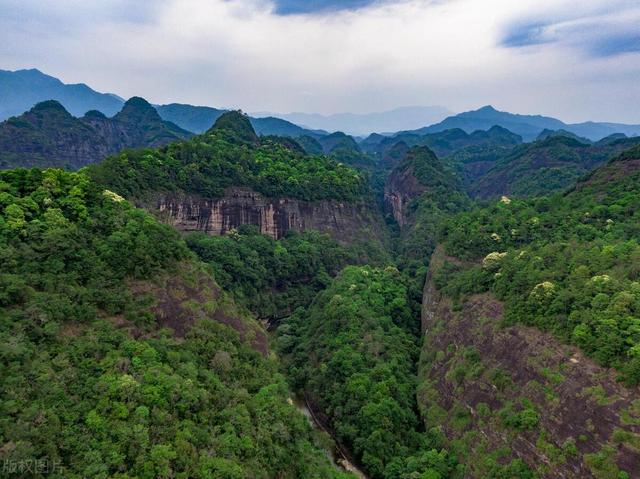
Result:
<svg viewBox="0 0 640 479"><path fill-rule="evenodd" d="M228 188L219 199L163 195L156 199L154 207L162 221L180 231L202 231L214 236L242 225L255 225L275 239L289 230L316 230L351 242L382 240L385 229L375 209L364 203L267 198L240 187Z"/></svg>

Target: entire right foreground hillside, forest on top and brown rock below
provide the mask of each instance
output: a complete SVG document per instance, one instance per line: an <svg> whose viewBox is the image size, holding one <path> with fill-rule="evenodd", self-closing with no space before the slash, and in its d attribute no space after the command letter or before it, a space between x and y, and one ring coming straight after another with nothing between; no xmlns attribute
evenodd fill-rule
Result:
<svg viewBox="0 0 640 479"><path fill-rule="evenodd" d="M495 451L541 477L635 477L639 175L635 147L564 195L444 222L419 402L475 476Z"/></svg>

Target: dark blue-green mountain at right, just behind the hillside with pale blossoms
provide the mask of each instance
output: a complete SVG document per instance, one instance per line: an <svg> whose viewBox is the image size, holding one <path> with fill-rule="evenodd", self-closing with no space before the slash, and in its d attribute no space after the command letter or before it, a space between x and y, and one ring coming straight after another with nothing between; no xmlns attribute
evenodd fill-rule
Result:
<svg viewBox="0 0 640 479"><path fill-rule="evenodd" d="M469 186L472 196L539 196L569 187L589 171L634 145L623 138L588 145L564 135L528 143L498 159Z"/></svg>

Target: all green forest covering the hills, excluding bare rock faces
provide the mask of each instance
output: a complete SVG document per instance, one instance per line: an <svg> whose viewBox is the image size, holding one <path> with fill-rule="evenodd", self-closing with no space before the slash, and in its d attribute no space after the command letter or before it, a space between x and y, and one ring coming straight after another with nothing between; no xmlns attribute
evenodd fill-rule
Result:
<svg viewBox="0 0 640 479"><path fill-rule="evenodd" d="M495 444L471 467L443 409L419 403L421 391L438 394L420 365L445 357L452 395L476 373L496 390L513 383L462 339L425 350L437 333L421 322L425 282L453 311L495 298L497 328L551 333L634 391L640 148L608 160L627 143L522 145L497 127L405 140L367 152L343 133L259 137L232 111L202 135L78 172L0 171L0 457L47 458L57 465L47 477L78 479L355 477L343 451L371 479L543 477L526 455L500 461ZM569 173L528 176L538 154ZM484 200L475 162L491 163ZM518 181L507 164L522 168ZM493 194L503 180L516 194ZM303 227L276 239L257 224L181 233L133 206L163 193L220 199L232 186L324 202L336 216L361 205L390 241ZM432 275L436 248L447 259ZM456 403L454 424L493 415L511 441L544 422L527 393L494 412L491 394L477 392L480 407ZM629 402L621 420L640 427L640 401ZM628 457L640 451L635 433L612 434ZM532 448L552 451L546 440ZM576 440L564 442L565 463ZM605 447L590 452L594 477L634 477Z"/></svg>

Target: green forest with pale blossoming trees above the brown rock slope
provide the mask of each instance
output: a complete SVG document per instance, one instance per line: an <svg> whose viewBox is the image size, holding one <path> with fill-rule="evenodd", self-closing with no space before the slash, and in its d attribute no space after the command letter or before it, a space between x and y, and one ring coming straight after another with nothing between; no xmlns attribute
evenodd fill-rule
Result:
<svg viewBox="0 0 640 479"><path fill-rule="evenodd" d="M446 269L455 295L491 288L506 319L554 332L640 382L640 149L566 196L503 198L449 220L449 254L483 264Z"/></svg>

